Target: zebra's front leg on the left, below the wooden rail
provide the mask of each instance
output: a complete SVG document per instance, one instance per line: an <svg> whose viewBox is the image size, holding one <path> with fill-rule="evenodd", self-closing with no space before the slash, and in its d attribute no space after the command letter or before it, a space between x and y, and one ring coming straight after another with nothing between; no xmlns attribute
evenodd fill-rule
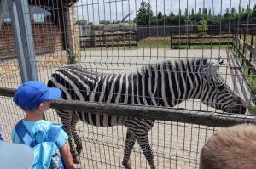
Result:
<svg viewBox="0 0 256 169"><path fill-rule="evenodd" d="M125 155L123 159L123 165L125 166L125 169L131 169L129 160L131 156L131 149L133 149L133 146L135 144L135 138L131 135L131 132L129 129L127 129L126 132L126 139L125 139Z"/></svg>

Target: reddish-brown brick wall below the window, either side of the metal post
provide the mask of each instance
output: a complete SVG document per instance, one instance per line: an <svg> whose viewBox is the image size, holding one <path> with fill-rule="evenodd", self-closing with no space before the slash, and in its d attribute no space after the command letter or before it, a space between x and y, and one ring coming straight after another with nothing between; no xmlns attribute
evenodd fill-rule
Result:
<svg viewBox="0 0 256 169"><path fill-rule="evenodd" d="M36 54L49 54L62 50L61 29L57 25L32 25ZM15 41L11 25L3 25L0 31L0 59L16 57Z"/></svg>

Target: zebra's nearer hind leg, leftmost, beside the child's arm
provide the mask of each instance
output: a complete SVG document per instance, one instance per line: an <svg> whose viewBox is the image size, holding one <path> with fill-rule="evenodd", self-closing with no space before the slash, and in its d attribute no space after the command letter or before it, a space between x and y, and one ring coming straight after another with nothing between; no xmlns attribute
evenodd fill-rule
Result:
<svg viewBox="0 0 256 169"><path fill-rule="evenodd" d="M74 139L73 139L73 134L71 129L71 121L72 121L73 113L64 111L64 110L56 110L56 112L60 116L61 122L64 127L64 131L68 135L68 143L70 147L70 152L73 155L73 162L76 164L79 164L80 163L79 154L75 149L75 144L74 144Z"/></svg>

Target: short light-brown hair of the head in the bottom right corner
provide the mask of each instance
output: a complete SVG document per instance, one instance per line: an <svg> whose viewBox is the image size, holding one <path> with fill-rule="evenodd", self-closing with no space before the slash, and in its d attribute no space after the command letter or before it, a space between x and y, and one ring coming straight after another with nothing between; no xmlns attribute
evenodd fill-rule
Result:
<svg viewBox="0 0 256 169"><path fill-rule="evenodd" d="M200 169L256 168L256 126L221 129L201 149Z"/></svg>

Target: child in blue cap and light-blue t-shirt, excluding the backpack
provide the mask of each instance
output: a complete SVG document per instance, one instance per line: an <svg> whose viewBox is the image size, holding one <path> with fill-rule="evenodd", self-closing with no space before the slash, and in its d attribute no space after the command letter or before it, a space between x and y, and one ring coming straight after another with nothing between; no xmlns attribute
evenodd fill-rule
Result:
<svg viewBox="0 0 256 169"><path fill-rule="evenodd" d="M61 98L61 90L59 88L49 88L42 82L28 81L18 87L15 92L14 102L26 113L25 119L21 120L21 122L23 122L31 136L38 131L43 131L47 135L46 132L49 131L51 123L43 120L43 113L49 110L51 100L59 98ZM23 144L24 141L20 140L15 129L14 127L12 131L13 142ZM61 129L55 144L60 150L62 162L67 169L71 169L73 168L73 158L68 148L67 138L67 133Z"/></svg>

